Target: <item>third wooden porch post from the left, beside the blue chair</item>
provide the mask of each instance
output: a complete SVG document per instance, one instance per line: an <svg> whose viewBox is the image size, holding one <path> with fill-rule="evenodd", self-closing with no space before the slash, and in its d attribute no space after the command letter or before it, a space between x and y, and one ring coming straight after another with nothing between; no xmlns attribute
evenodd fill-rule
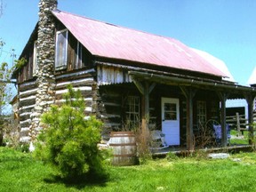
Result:
<svg viewBox="0 0 256 192"><path fill-rule="evenodd" d="M220 121L221 121L221 147L227 147L228 145L228 132L226 124L226 100L228 95L225 92L217 92L220 102L221 102L221 112L220 112Z"/></svg>

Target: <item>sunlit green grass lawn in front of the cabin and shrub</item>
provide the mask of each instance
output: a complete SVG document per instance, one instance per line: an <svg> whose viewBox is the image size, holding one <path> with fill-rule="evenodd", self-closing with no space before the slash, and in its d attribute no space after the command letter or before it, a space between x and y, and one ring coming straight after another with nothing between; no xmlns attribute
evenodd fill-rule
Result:
<svg viewBox="0 0 256 192"><path fill-rule="evenodd" d="M70 184L30 154L0 148L0 191L256 191L256 153L228 159L157 159L109 167L107 180Z"/></svg>

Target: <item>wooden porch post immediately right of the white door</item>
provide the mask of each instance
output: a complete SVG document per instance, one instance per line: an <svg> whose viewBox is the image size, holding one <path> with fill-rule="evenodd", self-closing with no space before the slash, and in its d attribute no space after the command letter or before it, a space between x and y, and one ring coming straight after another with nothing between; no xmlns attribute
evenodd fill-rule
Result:
<svg viewBox="0 0 256 192"><path fill-rule="evenodd" d="M193 150L193 98L196 95L196 90L192 90L191 87L180 87L181 91L186 97L186 105L187 105L187 149Z"/></svg>

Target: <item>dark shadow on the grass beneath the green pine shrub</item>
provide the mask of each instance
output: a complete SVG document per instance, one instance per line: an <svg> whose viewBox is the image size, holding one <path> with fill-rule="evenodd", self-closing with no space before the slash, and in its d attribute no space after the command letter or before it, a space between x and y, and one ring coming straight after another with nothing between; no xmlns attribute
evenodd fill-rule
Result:
<svg viewBox="0 0 256 192"><path fill-rule="evenodd" d="M92 173L87 173L79 177L68 177L61 178L59 175L51 175L49 178L45 178L44 182L49 184L64 184L67 188L77 188L82 189L85 187L105 187L107 181L109 180L109 175L107 173L102 175L95 175Z"/></svg>

